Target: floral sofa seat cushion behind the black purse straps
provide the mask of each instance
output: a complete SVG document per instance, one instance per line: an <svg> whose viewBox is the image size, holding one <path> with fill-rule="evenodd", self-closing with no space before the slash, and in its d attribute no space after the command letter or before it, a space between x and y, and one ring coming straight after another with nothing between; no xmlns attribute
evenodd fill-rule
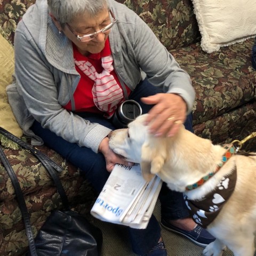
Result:
<svg viewBox="0 0 256 256"><path fill-rule="evenodd" d="M28 141L29 142L29 141ZM68 188L70 191L68 194L72 194L71 189L81 186L83 178L79 174L79 170L73 165L68 164L54 150L49 149L46 146L37 147L53 161L62 166L63 171L59 173L63 186ZM19 150L5 149L5 154L11 163L13 170L17 174L20 182L20 186L24 195L35 193L45 187L51 187L53 181L46 169L38 159L31 155L27 150L20 148ZM69 180L73 180L73 185L69 184ZM74 181L74 179L76 181ZM65 183L67 184L65 185ZM79 182L77 184L77 182ZM70 187L69 187L70 186ZM5 171L4 167L0 163L0 202L11 200L15 197L14 188L12 186L9 175ZM38 193L40 194L40 193Z"/></svg>

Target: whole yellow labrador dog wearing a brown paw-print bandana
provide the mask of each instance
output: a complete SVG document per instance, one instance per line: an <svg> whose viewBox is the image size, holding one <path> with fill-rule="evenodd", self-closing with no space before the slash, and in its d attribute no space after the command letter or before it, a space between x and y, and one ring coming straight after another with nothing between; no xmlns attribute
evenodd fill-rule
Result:
<svg viewBox="0 0 256 256"><path fill-rule="evenodd" d="M253 256L256 156L234 154L234 148L213 145L183 125L174 137L154 137L145 118L111 132L110 148L140 163L145 179L156 174L170 189L184 193L194 220L217 238L205 247L205 256L220 256L226 246L235 256Z"/></svg>

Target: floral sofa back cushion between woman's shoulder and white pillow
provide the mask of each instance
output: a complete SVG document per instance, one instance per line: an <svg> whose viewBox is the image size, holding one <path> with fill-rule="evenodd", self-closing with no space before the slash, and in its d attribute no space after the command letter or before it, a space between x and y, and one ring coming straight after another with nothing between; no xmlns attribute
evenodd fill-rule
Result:
<svg viewBox="0 0 256 256"><path fill-rule="evenodd" d="M167 50L199 41L199 30L190 0L117 0L135 11L153 30Z"/></svg>

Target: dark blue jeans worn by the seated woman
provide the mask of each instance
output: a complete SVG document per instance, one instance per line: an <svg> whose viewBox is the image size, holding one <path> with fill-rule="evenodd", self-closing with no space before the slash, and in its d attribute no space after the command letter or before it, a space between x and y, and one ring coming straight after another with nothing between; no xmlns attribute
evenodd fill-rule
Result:
<svg viewBox="0 0 256 256"><path fill-rule="evenodd" d="M142 108L142 114L145 114L153 106L143 104L140 98L156 93L161 93L161 91L159 91L157 87L151 85L146 79L130 94L129 99L139 102ZM111 121L103 118L101 115L91 113L80 113L79 115L91 122L100 123L101 125L115 130ZM193 131L191 114L185 122L185 127L187 130ZM66 158L68 162L79 167L81 174L83 174L85 178L91 182L98 193L100 193L109 177L109 172L106 170L105 157L101 153L96 154L90 148L79 147L76 143L70 143L51 132L49 129L43 129L41 124L36 121L31 127L31 130L43 139L46 146L57 151L60 155ZM189 214L187 206L183 201L182 193L171 191L164 183L159 199L161 201L162 218L180 219L188 217ZM154 215L151 217L146 229L128 229L131 237L132 249L137 254L146 254L157 244L159 237L161 236L161 228Z"/></svg>

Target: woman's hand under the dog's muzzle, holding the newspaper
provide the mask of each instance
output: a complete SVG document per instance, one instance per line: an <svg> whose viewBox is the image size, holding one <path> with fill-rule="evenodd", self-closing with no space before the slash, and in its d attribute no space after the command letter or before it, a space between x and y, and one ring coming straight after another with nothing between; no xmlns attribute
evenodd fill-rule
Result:
<svg viewBox="0 0 256 256"><path fill-rule="evenodd" d="M99 151L105 156L106 159L106 168L108 172L111 172L115 166L115 164L124 164L128 166L132 166L133 163L125 161L123 158L116 155L108 146L109 139L104 138L99 146Z"/></svg>

